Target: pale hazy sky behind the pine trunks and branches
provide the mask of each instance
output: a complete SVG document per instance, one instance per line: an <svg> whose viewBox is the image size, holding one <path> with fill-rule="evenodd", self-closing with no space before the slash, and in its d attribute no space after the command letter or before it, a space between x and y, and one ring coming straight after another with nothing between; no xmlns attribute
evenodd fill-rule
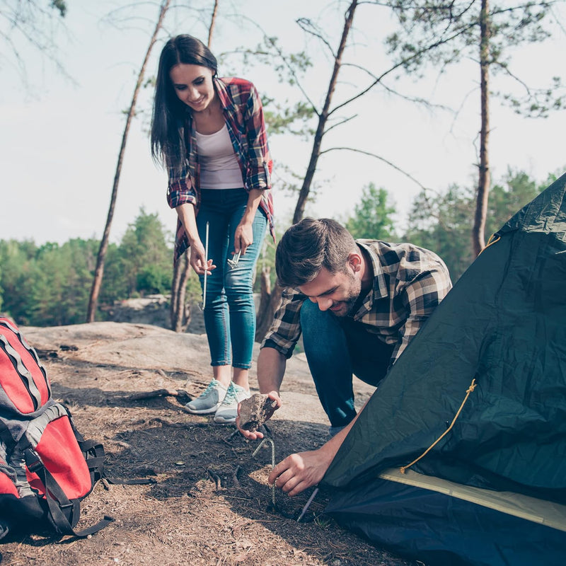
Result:
<svg viewBox="0 0 566 566"><path fill-rule="evenodd" d="M6 46L1 46L0 54L4 57L0 59L0 239L64 243L71 238L100 238L105 226L125 126L124 111L132 98L158 4L138 2L133 11L123 8L132 3L121 0L76 0L68 5L66 29L57 33L57 57L64 73L57 70L49 57L42 57L21 42L18 47L25 62L23 76ZM230 16L236 12L250 14L267 35L279 37L284 49L308 50L313 66L301 77L301 85L320 108L331 61L325 48L305 35L296 19L312 18L320 23L331 45L336 46L343 21L340 6L343 8L343 2L326 0L268 4L221 0L212 51L218 56L241 45L258 44L258 28ZM369 76L359 66L374 73L388 68L381 45L391 29L383 8L359 8L352 46L345 56L345 61L352 65L340 75L336 102L347 100L369 83ZM190 8L170 11L146 76L156 72L163 41L177 33L192 33L206 41L207 26L195 19ZM550 76L564 70L565 52L566 37L559 33L543 46L531 45L514 52L512 61L517 74L532 78L533 83L546 83ZM298 100L301 96L296 87L277 80L275 62L265 67L244 66L230 58L223 61L221 75L243 76L253 81L263 95L279 100ZM385 161L359 152L328 151L318 163L318 197L308 204L307 214L344 219L352 213L363 187L375 183L388 190L403 228L420 185L437 192L443 192L452 183L472 186L478 161L477 83L477 65L470 60L464 60L444 76L430 72L417 80L387 81L389 88L408 96L431 97L439 105L458 108L457 118L447 111L432 111L407 102L384 88L374 88L354 105L342 108L338 114L345 123L328 133L323 149L348 146L376 154L407 175ZM506 86L501 79L499 83L493 79L492 84L494 88ZM173 231L175 226L175 212L166 203L166 174L151 160L147 133L151 96L151 88L141 93L142 112L134 120L127 141L112 241L120 241L141 207L158 214L166 229ZM566 167L565 111L555 112L545 120L533 120L514 114L494 100L491 127L490 161L496 182L507 168L526 171L543 182L548 173L561 173ZM296 197L278 185L287 175L285 168L299 178L304 176L311 141L269 132L268 137L275 161L276 216L279 225L285 227Z"/></svg>

